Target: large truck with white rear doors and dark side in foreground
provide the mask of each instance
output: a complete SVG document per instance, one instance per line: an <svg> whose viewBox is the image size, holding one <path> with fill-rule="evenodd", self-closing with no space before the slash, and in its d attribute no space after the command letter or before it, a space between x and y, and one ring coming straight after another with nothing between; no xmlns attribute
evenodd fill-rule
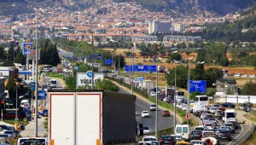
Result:
<svg viewBox="0 0 256 145"><path fill-rule="evenodd" d="M103 90L48 90L49 142L135 145L135 96Z"/></svg>

